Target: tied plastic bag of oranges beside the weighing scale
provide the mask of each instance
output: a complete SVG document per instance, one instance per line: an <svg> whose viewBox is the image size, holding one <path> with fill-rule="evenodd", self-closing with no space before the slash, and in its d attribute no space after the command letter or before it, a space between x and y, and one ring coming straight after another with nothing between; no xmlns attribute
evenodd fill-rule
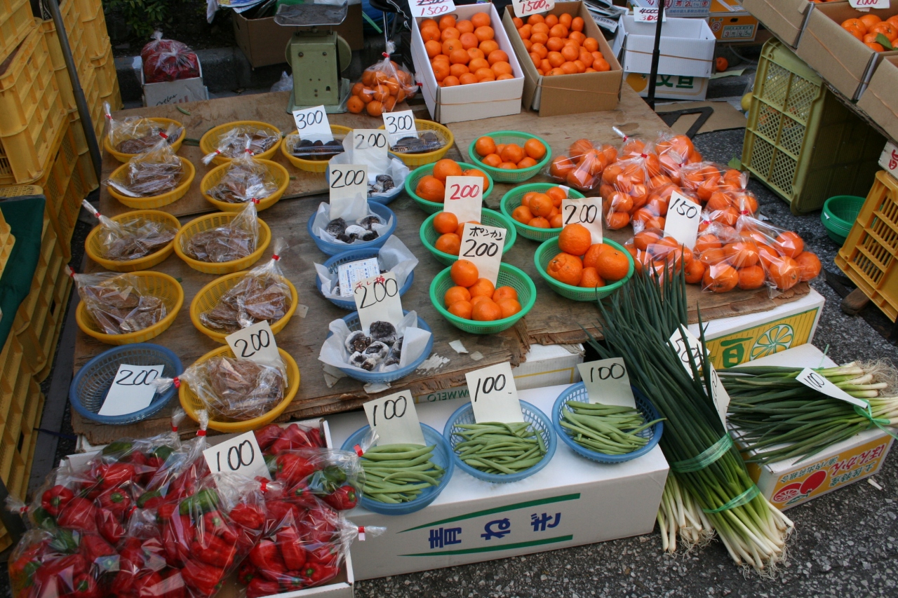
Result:
<svg viewBox="0 0 898 598"><path fill-rule="evenodd" d="M390 59L395 50L392 41L387 42L383 60L368 66L362 80L352 86L352 95L346 103L347 110L356 114L365 110L373 117L392 112L396 104L415 96L418 87L411 73L404 66Z"/></svg>

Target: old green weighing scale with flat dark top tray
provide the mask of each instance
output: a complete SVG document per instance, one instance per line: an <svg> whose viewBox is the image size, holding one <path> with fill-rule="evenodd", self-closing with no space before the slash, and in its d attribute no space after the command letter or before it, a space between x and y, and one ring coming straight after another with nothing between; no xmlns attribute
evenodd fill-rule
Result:
<svg viewBox="0 0 898 598"><path fill-rule="evenodd" d="M335 4L278 0L278 25L312 28L296 31L286 45L286 61L293 69L293 92L287 112L321 104L327 112L346 111L352 85L340 74L349 67L352 50L347 40L331 28L343 22L347 12L347 0Z"/></svg>

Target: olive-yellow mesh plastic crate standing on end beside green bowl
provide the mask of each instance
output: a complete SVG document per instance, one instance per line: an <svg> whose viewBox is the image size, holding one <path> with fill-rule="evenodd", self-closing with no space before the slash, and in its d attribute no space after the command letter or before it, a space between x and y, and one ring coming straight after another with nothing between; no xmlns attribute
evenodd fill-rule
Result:
<svg viewBox="0 0 898 598"><path fill-rule="evenodd" d="M835 195L864 195L885 145L779 40L764 44L745 128L742 163L793 214Z"/></svg>

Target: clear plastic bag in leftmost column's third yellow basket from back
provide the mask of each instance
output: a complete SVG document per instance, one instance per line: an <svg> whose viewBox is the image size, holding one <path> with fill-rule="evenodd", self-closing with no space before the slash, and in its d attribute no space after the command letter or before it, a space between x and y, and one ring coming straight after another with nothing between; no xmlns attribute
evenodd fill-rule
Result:
<svg viewBox="0 0 898 598"><path fill-rule="evenodd" d="M100 221L100 230L97 232L100 242L100 255L105 259L115 261L128 261L130 259L143 258L163 249L174 239L178 229L167 223L158 223L143 218L115 222L91 205L87 199L82 201L82 206Z"/></svg>

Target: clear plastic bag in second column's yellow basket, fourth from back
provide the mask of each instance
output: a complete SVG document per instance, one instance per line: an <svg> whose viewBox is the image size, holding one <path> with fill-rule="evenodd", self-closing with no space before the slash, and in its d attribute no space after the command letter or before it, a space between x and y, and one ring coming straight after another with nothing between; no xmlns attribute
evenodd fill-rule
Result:
<svg viewBox="0 0 898 598"><path fill-rule="evenodd" d="M283 318L291 301L290 287L280 267L286 248L284 239L277 238L271 259L247 272L214 308L199 314L199 321L211 330L230 334L263 320L273 324Z"/></svg>

